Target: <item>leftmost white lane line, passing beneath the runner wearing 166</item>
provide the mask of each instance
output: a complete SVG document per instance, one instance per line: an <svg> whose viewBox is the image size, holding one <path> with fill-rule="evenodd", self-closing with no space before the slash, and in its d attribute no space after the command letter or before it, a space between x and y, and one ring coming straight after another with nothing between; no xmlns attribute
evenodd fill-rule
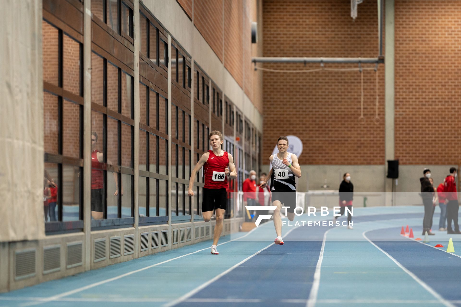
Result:
<svg viewBox="0 0 461 307"><path fill-rule="evenodd" d="M265 224L266 224L266 223L265 223ZM264 224L263 224L263 225L264 225ZM226 244L226 243L229 243L229 242L232 242L232 241L235 241L235 240L239 240L239 239L241 239L241 238L243 238L243 237L246 237L246 236L248 236L250 233L252 233L252 232L253 232L254 230L256 230L256 229L258 229L258 228L253 228L251 231L249 231L247 234L243 235L242 237L238 237L238 238L235 238L235 239L232 239L232 240L223 242L223 243L219 243L218 246L223 245L223 244ZM58 294L58 295L49 296L49 297L47 297L47 298L45 298L44 300L41 300L41 301L25 303L25 304L22 304L21 307L39 305L39 304L42 304L42 303L48 302L48 301L56 301L56 300L60 299L61 297L68 296L68 295L72 295L72 294L75 294L75 293L78 293L78 292L81 292L81 291L84 291L84 290L88 290L88 289L97 287L97 286L99 286L99 285L101 285L101 284L106 284L106 283L109 283L109 282L111 282L111 281L114 281L114 280L117 280L117 279L120 279L120 278L124 278L124 277L126 277L126 276L129 276L129 275L132 275L132 274L135 274L135 273L138 273L138 272L142 272L142 271L144 271L144 270L148 270L148 269L150 269L150 268L153 268L154 266L160 266L161 264L164 264L164 263L167 263L167 262L170 262L170 261L179 259L179 258L183 258L183 257L189 256L189 255L192 255L192 254L201 252L201 251L206 250L206 249L210 249L210 248L207 247L207 248L204 248L204 249L199 249L199 250L196 250L195 252L192 252L192 253L189 253L189 254L186 254L186 255L181 255L181 256L178 256L178 257L175 257L175 258L171 258L171 259L168 259L168 260L165 260L165 261L161 261L161 262L155 263L155 264L150 265L150 266L145 266L145 267L143 267L143 268L141 268L141 269L134 270L134 271L131 271L131 272L127 272L127 273L118 275L118 276L116 276L116 277L107 278L107 279L101 280L101 281L99 281L99 282L97 282L97 283L89 284L89 285L86 285L86 286L84 286L84 287L80 287L80 288L77 288L77 289L74 289L74 290L70 290L70 291L67 291L67 292L63 292L63 293Z"/></svg>

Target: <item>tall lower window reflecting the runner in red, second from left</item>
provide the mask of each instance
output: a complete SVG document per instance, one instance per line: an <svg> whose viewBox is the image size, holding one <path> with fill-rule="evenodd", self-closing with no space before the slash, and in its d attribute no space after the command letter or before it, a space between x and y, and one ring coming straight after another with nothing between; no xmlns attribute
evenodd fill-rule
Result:
<svg viewBox="0 0 461 307"><path fill-rule="evenodd" d="M134 79L95 52L91 66L91 215L133 217Z"/></svg>

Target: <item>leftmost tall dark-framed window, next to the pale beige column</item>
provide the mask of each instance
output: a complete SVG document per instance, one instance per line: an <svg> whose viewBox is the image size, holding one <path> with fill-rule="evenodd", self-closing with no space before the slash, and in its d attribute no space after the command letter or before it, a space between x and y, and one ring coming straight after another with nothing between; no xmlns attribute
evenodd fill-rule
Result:
<svg viewBox="0 0 461 307"><path fill-rule="evenodd" d="M62 26L42 21L47 232L83 228L83 37Z"/></svg>

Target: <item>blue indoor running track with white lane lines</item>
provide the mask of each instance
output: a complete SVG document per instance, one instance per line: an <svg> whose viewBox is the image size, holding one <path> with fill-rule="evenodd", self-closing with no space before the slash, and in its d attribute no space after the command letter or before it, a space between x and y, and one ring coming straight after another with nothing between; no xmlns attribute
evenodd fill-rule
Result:
<svg viewBox="0 0 461 307"><path fill-rule="evenodd" d="M0 306L461 307L461 235L400 235L408 224L423 238L423 210L355 208L353 230L285 225L283 246L269 221L222 237L219 255L205 241L5 293ZM457 253L445 252L449 237Z"/></svg>

